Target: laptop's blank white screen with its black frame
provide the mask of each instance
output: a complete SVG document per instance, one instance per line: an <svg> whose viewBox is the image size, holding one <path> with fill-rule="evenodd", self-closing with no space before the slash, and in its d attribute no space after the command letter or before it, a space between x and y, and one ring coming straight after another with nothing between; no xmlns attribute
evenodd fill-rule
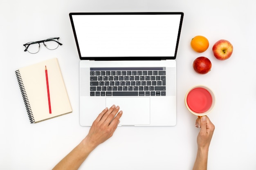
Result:
<svg viewBox="0 0 256 170"><path fill-rule="evenodd" d="M70 13L81 60L175 59L182 12Z"/></svg>

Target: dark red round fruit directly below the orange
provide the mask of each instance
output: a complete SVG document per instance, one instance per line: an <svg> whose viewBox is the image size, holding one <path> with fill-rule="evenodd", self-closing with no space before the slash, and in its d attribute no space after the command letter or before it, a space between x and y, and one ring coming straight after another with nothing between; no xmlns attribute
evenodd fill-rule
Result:
<svg viewBox="0 0 256 170"><path fill-rule="evenodd" d="M207 57L198 57L193 62L193 68L197 73L206 74L211 71L211 61Z"/></svg>

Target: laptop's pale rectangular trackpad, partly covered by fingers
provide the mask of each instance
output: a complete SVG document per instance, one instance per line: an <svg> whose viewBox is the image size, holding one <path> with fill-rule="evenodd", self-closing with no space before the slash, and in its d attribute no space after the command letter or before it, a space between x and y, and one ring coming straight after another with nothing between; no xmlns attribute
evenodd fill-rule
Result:
<svg viewBox="0 0 256 170"><path fill-rule="evenodd" d="M123 111L119 125L150 124L149 97L106 97L106 107L109 108L113 104Z"/></svg>

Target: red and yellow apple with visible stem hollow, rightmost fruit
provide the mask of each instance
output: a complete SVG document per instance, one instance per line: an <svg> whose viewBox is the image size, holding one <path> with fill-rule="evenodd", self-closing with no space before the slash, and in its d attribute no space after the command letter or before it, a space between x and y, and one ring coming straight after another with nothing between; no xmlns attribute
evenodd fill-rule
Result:
<svg viewBox="0 0 256 170"><path fill-rule="evenodd" d="M218 60L227 60L233 53L233 45L228 40L218 40L212 50Z"/></svg>

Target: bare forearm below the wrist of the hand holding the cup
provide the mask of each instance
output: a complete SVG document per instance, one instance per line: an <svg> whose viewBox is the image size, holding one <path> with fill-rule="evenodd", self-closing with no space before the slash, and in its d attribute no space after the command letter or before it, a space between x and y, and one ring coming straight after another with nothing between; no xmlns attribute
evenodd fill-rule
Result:
<svg viewBox="0 0 256 170"><path fill-rule="evenodd" d="M198 148L193 170L207 170L207 160L208 160L208 148L207 149Z"/></svg>

